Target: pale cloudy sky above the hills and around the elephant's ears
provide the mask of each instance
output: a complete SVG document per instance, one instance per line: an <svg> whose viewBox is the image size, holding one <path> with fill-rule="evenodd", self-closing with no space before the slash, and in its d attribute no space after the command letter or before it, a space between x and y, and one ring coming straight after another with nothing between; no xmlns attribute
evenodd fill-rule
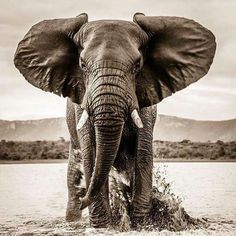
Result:
<svg viewBox="0 0 236 236"><path fill-rule="evenodd" d="M158 104L158 113L197 120L236 118L235 0L6 0L0 1L0 119L24 120L65 116L66 99L30 85L14 67L18 42L44 19L86 12L89 21L132 21L135 12L194 19L216 36L209 73Z"/></svg>

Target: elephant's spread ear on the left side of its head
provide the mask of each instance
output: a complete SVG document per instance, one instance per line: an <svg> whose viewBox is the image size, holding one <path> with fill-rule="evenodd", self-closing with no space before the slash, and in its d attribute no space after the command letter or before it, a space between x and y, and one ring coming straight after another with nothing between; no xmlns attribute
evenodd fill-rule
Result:
<svg viewBox="0 0 236 236"><path fill-rule="evenodd" d="M72 38L87 20L87 14L81 14L34 25L18 44L14 57L25 79L44 91L81 102L82 71Z"/></svg>

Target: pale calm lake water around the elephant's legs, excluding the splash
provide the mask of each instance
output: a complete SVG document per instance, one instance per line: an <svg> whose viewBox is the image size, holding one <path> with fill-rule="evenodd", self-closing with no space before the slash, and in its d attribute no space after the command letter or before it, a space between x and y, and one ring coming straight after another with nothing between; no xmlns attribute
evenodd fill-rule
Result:
<svg viewBox="0 0 236 236"><path fill-rule="evenodd" d="M212 222L208 229L178 235L212 232L214 235L236 235L236 163L155 165L165 172L172 192L183 199L185 210L193 217L209 218ZM67 202L66 169L65 163L0 165L0 227L3 229L0 228L0 235L1 232L13 232L16 227L22 232L29 229L36 232L52 225L57 226L59 235L70 235L63 219ZM160 235L163 233L172 235L164 231ZM86 229L83 234L94 232ZM132 235L132 232L124 235Z"/></svg>

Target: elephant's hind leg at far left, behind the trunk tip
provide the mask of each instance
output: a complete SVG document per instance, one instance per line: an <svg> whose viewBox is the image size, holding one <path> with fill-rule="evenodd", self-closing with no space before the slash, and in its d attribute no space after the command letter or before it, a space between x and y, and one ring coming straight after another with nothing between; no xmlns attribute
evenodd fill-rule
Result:
<svg viewBox="0 0 236 236"><path fill-rule="evenodd" d="M67 187L68 202L66 209L66 220L76 221L81 218L81 210L79 210L79 198L84 195L85 188L81 185L82 180L82 158L79 149L70 144L69 162L67 170Z"/></svg>

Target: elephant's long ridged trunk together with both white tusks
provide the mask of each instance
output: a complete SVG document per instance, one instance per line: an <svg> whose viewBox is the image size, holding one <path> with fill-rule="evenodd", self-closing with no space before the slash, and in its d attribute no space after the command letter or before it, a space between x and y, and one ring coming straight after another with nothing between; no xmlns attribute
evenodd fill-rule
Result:
<svg viewBox="0 0 236 236"><path fill-rule="evenodd" d="M80 209L100 196L116 158L127 115L132 117L138 128L143 127L138 115L137 98L132 93L129 81L122 70L106 67L96 70L96 77L93 78L88 100L77 125L77 129L81 129L91 116L96 142L95 166L87 193L81 199Z"/></svg>

